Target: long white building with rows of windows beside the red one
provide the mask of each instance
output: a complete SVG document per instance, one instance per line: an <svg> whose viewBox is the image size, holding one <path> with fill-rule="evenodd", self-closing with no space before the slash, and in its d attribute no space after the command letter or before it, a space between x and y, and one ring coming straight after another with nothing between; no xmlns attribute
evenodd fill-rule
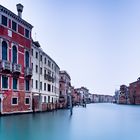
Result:
<svg viewBox="0 0 140 140"><path fill-rule="evenodd" d="M59 100L59 66L36 41L32 43L32 95L34 111L45 111Z"/></svg>

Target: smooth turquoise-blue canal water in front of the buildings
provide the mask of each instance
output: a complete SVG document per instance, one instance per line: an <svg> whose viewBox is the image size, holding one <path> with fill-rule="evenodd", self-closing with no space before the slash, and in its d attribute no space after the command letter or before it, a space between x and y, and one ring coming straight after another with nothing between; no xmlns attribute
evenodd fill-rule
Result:
<svg viewBox="0 0 140 140"><path fill-rule="evenodd" d="M140 140L140 106L89 104L0 117L0 140Z"/></svg>

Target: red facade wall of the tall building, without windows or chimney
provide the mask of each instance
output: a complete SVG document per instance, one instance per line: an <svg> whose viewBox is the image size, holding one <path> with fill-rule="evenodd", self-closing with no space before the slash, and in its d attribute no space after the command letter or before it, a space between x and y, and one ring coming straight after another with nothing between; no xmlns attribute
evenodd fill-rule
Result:
<svg viewBox="0 0 140 140"><path fill-rule="evenodd" d="M30 49L31 49L31 29L32 26L16 16L11 11L1 6L0 21L2 15L7 19L7 26L0 23L0 113L22 113L32 111L32 95L30 91L30 74L25 75L27 67L25 66L25 52L29 54L30 69ZM17 29L12 29L12 21L16 22ZM22 26L22 27L21 27ZM28 29L29 37L25 37L25 30ZM7 60L2 58L2 43L7 44ZM17 63L13 63L13 46L17 48ZM4 67L8 63L10 70ZM14 67L21 69L14 71ZM16 68L17 69L17 68ZM2 77L7 77L8 88L2 87ZM17 79L17 89L13 89L13 78ZM29 90L26 90L25 80L29 81ZM16 98L16 101L13 101Z"/></svg>

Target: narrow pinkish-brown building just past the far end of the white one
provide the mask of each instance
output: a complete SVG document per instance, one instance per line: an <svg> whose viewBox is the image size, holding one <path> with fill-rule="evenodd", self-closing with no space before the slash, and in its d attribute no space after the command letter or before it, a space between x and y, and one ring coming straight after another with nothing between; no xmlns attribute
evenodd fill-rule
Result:
<svg viewBox="0 0 140 140"><path fill-rule="evenodd" d="M71 78L66 71L60 71L59 76L60 108L66 108L68 106L69 93L71 92Z"/></svg>

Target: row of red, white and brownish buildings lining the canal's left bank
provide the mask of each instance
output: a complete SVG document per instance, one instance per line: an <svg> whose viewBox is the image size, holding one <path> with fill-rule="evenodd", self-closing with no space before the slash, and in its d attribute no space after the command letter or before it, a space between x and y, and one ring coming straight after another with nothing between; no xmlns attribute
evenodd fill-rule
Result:
<svg viewBox="0 0 140 140"><path fill-rule="evenodd" d="M33 26L0 5L0 114L47 111L90 103L85 87L71 86L71 77L32 39Z"/></svg>

